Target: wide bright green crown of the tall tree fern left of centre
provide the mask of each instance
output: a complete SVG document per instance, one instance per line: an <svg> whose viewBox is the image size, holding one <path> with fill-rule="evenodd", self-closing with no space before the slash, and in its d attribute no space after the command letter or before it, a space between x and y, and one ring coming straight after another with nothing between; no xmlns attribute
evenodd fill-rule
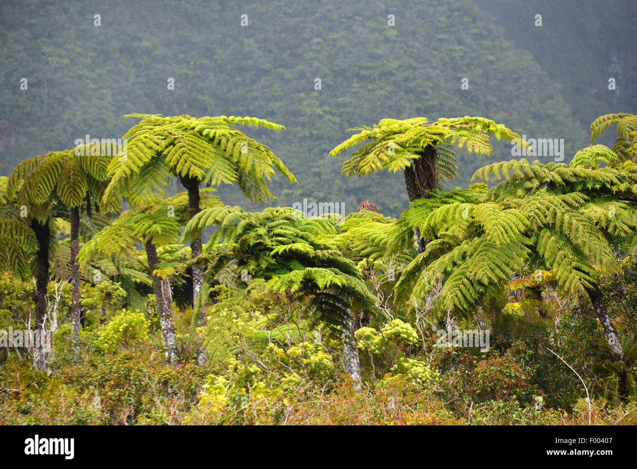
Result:
<svg viewBox="0 0 637 469"><path fill-rule="evenodd" d="M140 118L125 135L127 155L116 155L108 166L113 179L105 192L111 199L117 194L138 196L148 189L165 187L169 173L194 178L204 184L238 184L251 200L273 197L268 181L275 170L288 180L294 175L271 150L236 129L262 126L273 130L284 127L254 117L190 117L132 113Z"/></svg>

